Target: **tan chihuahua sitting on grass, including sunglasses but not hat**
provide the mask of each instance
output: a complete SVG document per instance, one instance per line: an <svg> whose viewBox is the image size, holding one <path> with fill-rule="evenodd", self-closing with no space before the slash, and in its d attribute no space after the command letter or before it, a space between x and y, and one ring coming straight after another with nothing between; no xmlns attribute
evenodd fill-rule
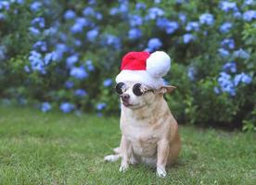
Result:
<svg viewBox="0 0 256 185"><path fill-rule="evenodd" d="M114 149L116 154L105 156L105 161L122 158L121 172L130 164L144 163L156 167L160 178L166 177L166 166L173 164L181 149L178 124L163 98L174 89L151 89L132 81L116 85L122 103L122 139L120 147Z"/></svg>

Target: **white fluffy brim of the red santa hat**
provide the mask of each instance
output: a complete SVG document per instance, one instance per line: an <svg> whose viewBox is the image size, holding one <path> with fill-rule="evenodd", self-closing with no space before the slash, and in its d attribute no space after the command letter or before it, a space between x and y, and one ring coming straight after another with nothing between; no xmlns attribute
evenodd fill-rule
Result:
<svg viewBox="0 0 256 185"><path fill-rule="evenodd" d="M159 89L164 84L163 79L152 77L146 70L122 70L116 77L116 82L127 81L143 83L153 89Z"/></svg>

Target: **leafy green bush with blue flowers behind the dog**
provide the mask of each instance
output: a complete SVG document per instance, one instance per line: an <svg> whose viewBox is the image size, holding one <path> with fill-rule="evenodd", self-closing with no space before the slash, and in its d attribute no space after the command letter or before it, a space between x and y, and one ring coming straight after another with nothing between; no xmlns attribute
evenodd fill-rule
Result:
<svg viewBox="0 0 256 185"><path fill-rule="evenodd" d="M167 96L182 123L255 129L256 4L155 0L0 2L0 97L43 112L118 115L122 56L172 57Z"/></svg>

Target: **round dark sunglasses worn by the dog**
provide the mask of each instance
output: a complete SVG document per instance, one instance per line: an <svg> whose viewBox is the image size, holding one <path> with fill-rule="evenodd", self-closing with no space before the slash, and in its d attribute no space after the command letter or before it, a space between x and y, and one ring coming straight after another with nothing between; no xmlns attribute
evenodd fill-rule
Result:
<svg viewBox="0 0 256 185"><path fill-rule="evenodd" d="M115 87L116 93L118 93L119 95L124 93L127 89L128 89L128 87L123 82L119 82ZM141 83L134 84L133 93L136 96L141 96L142 94L147 93L147 92L154 93L155 91L153 89L149 89L149 88L148 89L142 88Z"/></svg>

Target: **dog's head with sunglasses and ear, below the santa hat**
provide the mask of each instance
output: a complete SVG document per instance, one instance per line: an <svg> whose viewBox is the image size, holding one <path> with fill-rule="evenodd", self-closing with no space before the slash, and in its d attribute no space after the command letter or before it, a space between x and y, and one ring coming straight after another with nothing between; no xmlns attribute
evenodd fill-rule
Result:
<svg viewBox="0 0 256 185"><path fill-rule="evenodd" d="M122 105L138 109L146 105L151 105L164 93L173 92L174 86L161 86L159 89L152 89L147 85L137 82L120 82L115 87L116 92L120 95Z"/></svg>

